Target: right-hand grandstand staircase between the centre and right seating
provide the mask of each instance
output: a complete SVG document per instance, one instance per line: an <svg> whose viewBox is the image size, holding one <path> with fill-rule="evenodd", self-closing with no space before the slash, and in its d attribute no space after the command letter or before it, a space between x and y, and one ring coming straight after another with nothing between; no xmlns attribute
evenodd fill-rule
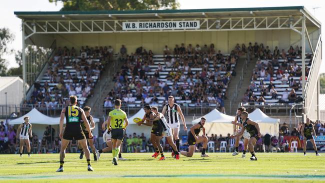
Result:
<svg viewBox="0 0 325 183"><path fill-rule="evenodd" d="M238 108L238 104L241 102L241 98L244 95L246 88L250 84L250 78L251 78L251 71L255 67L256 59L251 59L246 64L246 56L239 57L235 71L236 76L232 76L230 83L228 84L227 88L227 99L224 100L224 108L225 112L228 115L235 115L236 110ZM247 65L245 67L245 64ZM242 76L242 79L240 80L240 77ZM237 94L235 96L234 93ZM231 105L230 105L231 102ZM231 108L231 110L230 110Z"/></svg>

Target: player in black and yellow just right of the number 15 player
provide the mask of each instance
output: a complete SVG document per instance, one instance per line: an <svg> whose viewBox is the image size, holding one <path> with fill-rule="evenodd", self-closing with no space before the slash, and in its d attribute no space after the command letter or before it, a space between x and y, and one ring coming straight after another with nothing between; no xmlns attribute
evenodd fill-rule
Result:
<svg viewBox="0 0 325 183"><path fill-rule="evenodd" d="M92 115L90 115L91 108L88 107L88 106L85 106L85 107L83 107L83 111L84 111L84 114L87 117L87 122L90 125L91 133L93 133L92 130L95 128L95 123L93 122ZM87 139L87 141L89 143L89 146L91 148L91 151L93 153L93 160L96 161L97 160L96 147L93 145L93 137L89 138L89 133L88 133L88 131L86 129L86 126L84 125L85 122L82 119L81 119L80 122L81 122L82 131L83 131L83 133L84 133L84 135L85 135L85 137L86 137L86 139ZM81 148L81 145L80 145L79 141L78 141L78 147L80 149L80 156L79 156L79 158L82 159L84 152L83 152L83 149Z"/></svg>

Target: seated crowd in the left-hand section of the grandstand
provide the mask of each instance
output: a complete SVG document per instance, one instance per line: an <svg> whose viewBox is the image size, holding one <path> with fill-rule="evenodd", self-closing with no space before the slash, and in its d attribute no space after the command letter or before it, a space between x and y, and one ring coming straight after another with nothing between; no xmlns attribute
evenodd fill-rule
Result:
<svg viewBox="0 0 325 183"><path fill-rule="evenodd" d="M61 109L69 103L69 95L77 95L82 106L92 95L100 72L112 54L111 46L81 46L79 51L74 47L70 50L66 46L58 47L47 71L41 80L35 81L31 96L23 101L22 107Z"/></svg>

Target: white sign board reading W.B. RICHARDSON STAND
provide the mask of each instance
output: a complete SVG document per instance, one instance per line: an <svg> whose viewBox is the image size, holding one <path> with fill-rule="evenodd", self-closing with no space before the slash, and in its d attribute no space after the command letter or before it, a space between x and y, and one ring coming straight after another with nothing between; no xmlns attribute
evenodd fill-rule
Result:
<svg viewBox="0 0 325 183"><path fill-rule="evenodd" d="M199 20L186 21L124 21L123 30L168 30L168 29L196 29Z"/></svg>

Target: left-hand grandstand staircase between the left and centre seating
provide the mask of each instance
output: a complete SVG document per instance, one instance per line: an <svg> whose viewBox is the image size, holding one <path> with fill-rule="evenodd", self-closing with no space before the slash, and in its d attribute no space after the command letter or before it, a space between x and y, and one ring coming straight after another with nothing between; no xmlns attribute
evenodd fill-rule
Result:
<svg viewBox="0 0 325 183"><path fill-rule="evenodd" d="M91 113L93 116L104 116L103 102L108 92L113 88L112 78L116 73L116 70L122 66L121 62L118 62L117 57L113 58L113 62L109 62L104 67L103 73L100 75L98 83L93 89L93 95L88 98L85 106L91 107Z"/></svg>

